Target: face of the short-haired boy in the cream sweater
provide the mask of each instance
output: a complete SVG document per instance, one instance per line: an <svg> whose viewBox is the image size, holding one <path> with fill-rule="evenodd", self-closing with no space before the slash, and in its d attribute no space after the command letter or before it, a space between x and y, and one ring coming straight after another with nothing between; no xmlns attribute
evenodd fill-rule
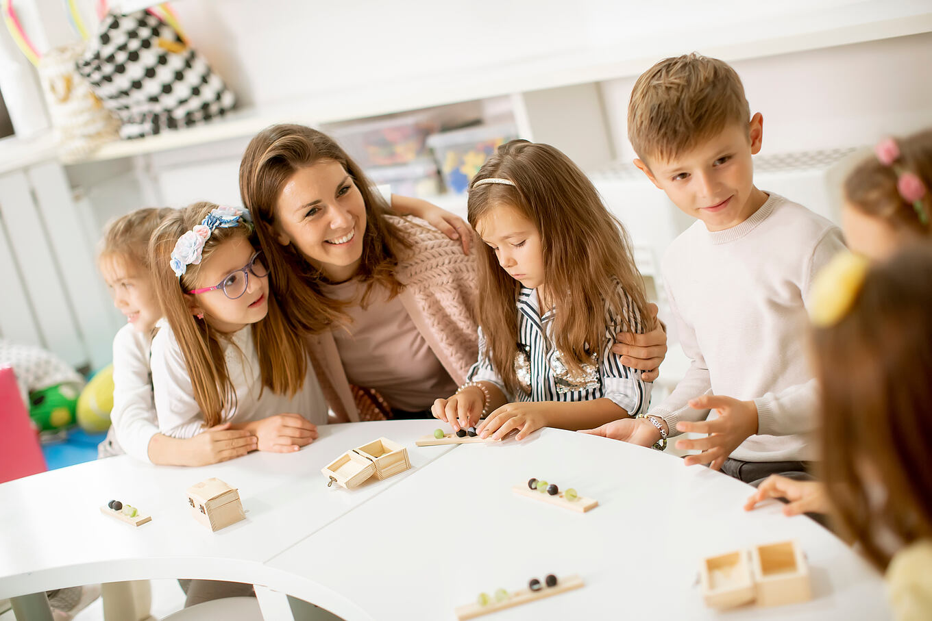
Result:
<svg viewBox="0 0 932 621"><path fill-rule="evenodd" d="M748 130L749 129L749 130ZM721 231L743 223L766 201L754 187L751 155L761 151L763 117L734 123L668 161L635 160L638 169L684 213Z"/></svg>

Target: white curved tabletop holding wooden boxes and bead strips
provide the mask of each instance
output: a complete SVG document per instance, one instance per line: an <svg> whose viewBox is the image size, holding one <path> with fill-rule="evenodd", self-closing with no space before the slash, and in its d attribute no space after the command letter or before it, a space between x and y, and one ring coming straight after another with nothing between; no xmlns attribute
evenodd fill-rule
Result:
<svg viewBox="0 0 932 621"><path fill-rule="evenodd" d="M700 560L752 544L801 542L814 601L730 618L888 618L883 583L840 540L774 503L746 513L744 483L676 457L544 429L522 442L416 447L433 421L322 427L290 455L253 453L201 468L117 457L0 485L0 598L140 578L252 582L352 619L452 619L480 591L581 574L586 586L497 619L711 618L694 587ZM412 468L354 490L320 470L384 436ZM239 488L247 520L211 533L185 490L210 477ZM599 506L575 513L515 495L531 477ZM100 513L117 498L152 516L133 528Z"/></svg>

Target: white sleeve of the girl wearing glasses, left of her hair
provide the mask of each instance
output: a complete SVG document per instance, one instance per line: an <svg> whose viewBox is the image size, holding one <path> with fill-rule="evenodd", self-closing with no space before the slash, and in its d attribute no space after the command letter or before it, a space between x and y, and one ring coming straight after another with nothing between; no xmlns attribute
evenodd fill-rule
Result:
<svg viewBox="0 0 932 621"><path fill-rule="evenodd" d="M204 417L185 365L185 355L167 325L152 340L152 386L158 428L171 438L193 438L204 430Z"/></svg>

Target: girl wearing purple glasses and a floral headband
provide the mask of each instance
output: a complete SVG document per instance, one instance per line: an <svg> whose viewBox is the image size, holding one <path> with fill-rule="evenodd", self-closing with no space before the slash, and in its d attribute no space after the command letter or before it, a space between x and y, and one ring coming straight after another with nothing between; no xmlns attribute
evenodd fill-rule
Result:
<svg viewBox="0 0 932 621"><path fill-rule="evenodd" d="M316 439L327 405L268 285L249 212L180 209L156 230L149 257L168 322L152 342L161 432L190 438L228 423L271 452Z"/></svg>

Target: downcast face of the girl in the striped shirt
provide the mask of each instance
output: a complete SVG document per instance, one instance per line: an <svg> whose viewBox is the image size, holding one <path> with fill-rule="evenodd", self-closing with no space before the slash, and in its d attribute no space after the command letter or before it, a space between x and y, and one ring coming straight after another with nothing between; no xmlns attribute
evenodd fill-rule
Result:
<svg viewBox="0 0 932 621"><path fill-rule="evenodd" d="M476 232L495 252L501 269L528 289L543 284L541 234L534 223L510 205L489 209L475 226Z"/></svg>

